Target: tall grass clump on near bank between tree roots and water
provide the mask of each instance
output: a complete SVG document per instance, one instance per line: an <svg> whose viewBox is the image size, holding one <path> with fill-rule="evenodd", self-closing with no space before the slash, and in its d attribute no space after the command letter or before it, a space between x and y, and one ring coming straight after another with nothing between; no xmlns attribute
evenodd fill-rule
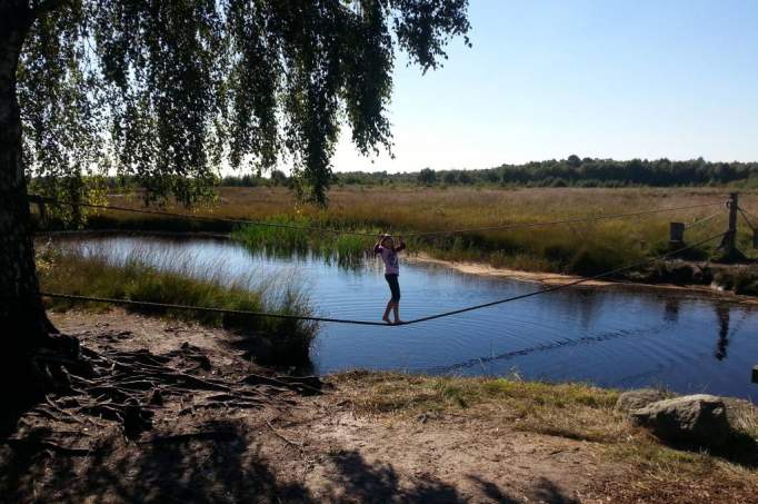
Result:
<svg viewBox="0 0 758 504"><path fill-rule="evenodd" d="M188 257L176 254L163 254L158 259L153 255L150 263L147 254L147 250L131 251L123 264L117 265L109 263L106 255L97 249L84 255L73 249L42 247L37 256L40 286L46 291L96 297L277 314L310 313L308 300L290 279L277 281L251 273L228 284L220 274L220 265L193 267ZM150 266L156 260L162 265L160 268ZM79 302L56 298L47 303L49 308L58 310L81 306ZM93 310L106 309L104 305L97 303L86 306ZM302 320L131 306L127 309L263 337L271 343L268 355L261 355L262 360L269 364L308 364L317 330L316 325Z"/></svg>

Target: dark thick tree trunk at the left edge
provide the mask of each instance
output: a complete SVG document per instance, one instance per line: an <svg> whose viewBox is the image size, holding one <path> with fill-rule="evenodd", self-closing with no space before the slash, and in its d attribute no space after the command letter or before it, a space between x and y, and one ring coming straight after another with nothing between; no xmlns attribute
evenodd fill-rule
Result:
<svg viewBox="0 0 758 504"><path fill-rule="evenodd" d="M0 409L29 404L50 385L53 374L39 364L40 352L67 348L70 357L76 347L76 340L53 336L58 332L46 315L34 265L16 96L30 22L26 1L0 0Z"/></svg>

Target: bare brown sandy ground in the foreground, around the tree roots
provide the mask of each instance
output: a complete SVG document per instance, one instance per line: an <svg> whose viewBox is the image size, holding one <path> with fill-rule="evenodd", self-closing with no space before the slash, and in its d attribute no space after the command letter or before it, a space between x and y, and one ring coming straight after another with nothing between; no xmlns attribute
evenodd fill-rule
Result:
<svg viewBox="0 0 758 504"><path fill-rule="evenodd" d="M261 372L219 329L119 309L52 319L93 349L163 354L188 343L211 363L198 376ZM73 454L0 445L0 502L646 501L634 486L639 475L600 445L518 432L497 405L476 415L367 415L332 382L321 395L276 394L255 409L167 403L154 408L153 428L132 439L107 422L72 423ZM708 502L748 502L710 492Z"/></svg>

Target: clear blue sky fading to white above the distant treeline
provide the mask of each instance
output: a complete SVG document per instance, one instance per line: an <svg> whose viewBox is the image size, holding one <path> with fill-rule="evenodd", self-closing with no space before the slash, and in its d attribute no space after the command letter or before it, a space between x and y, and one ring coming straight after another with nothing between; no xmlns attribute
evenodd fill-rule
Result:
<svg viewBox="0 0 758 504"><path fill-rule="evenodd" d="M396 159L338 171L488 168L580 157L758 160L758 0L470 0L422 76L400 55Z"/></svg>

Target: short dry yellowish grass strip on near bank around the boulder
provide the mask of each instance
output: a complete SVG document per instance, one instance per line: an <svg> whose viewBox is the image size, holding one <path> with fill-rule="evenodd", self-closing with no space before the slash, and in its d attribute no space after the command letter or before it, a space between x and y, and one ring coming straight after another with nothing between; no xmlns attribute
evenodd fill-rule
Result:
<svg viewBox="0 0 758 504"><path fill-rule="evenodd" d="M609 462L635 467L644 481L636 483L642 485L637 488L640 495L646 484L656 481L685 488L709 478L716 486L722 485L727 495L734 488L740 494L744 487L748 494L749 488L758 488L758 415L744 402L729 403L730 422L737 431L731 444L720 453L707 453L661 444L615 411L618 391L588 384L369 372L343 373L332 379L357 414L407 419L442 414L596 443ZM647 491L649 496L640 501L655 500L655 485Z"/></svg>

